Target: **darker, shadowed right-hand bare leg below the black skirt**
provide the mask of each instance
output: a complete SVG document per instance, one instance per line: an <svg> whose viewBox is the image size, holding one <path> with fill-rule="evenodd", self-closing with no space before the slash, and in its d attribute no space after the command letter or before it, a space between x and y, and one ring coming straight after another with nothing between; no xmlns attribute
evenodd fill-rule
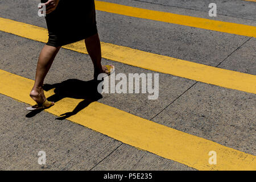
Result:
<svg viewBox="0 0 256 182"><path fill-rule="evenodd" d="M108 69L101 65L101 43L98 34L85 39L85 46L94 66L94 78L100 73L108 73Z"/></svg>

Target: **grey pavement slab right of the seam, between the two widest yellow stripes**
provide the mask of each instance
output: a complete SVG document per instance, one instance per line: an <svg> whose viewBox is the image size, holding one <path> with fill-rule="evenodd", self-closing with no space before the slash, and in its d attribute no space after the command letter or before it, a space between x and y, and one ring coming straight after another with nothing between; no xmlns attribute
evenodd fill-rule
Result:
<svg viewBox="0 0 256 182"><path fill-rule="evenodd" d="M256 96L198 82L152 121L256 154Z"/></svg>

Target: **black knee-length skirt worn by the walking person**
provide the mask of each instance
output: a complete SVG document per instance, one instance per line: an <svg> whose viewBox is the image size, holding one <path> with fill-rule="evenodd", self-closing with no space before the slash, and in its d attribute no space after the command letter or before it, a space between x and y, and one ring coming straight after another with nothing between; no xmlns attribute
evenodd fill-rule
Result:
<svg viewBox="0 0 256 182"><path fill-rule="evenodd" d="M46 15L46 23L48 46L60 47L89 38L97 34L94 0L60 0Z"/></svg>

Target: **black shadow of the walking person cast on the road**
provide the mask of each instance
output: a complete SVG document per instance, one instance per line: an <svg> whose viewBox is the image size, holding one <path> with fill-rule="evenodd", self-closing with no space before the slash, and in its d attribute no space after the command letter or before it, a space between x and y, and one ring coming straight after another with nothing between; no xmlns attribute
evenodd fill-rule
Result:
<svg viewBox="0 0 256 182"><path fill-rule="evenodd" d="M98 93L97 87L101 81L90 80L82 81L77 79L69 79L57 84L44 84L43 89L48 91L55 88L54 93L51 97L48 97L48 101L58 102L65 97L83 99L73 111L61 114L61 117L56 118L59 120L67 119L72 115L77 114L79 111L87 107L90 103L98 101L102 98L102 95ZM53 106L54 107L54 106ZM31 111L26 117L31 118L36 114L43 111L43 109Z"/></svg>

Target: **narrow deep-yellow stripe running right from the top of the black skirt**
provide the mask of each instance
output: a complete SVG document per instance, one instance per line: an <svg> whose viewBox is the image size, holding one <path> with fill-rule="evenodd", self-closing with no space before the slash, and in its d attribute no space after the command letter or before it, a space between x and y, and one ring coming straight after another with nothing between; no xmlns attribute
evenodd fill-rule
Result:
<svg viewBox="0 0 256 182"><path fill-rule="evenodd" d="M184 26L203 28L206 30L225 32L229 34L253 36L254 38L256 38L256 27L254 26L221 22L218 20L197 18L187 15L178 15L162 11L147 10L138 7L118 5L109 2L95 1L95 3L97 10L105 11L108 13L115 13L126 16L133 16L137 18L151 19L160 22L180 24Z"/></svg>

